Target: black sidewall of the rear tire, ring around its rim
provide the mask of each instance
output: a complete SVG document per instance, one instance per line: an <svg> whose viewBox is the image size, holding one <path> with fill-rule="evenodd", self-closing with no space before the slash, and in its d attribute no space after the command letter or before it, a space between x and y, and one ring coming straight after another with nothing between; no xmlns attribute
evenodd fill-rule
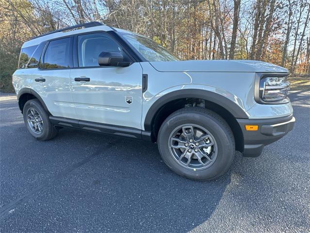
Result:
<svg viewBox="0 0 310 233"><path fill-rule="evenodd" d="M30 108L35 109L41 116L42 118L42 122L43 122L43 132L42 133L34 133L32 132L29 123L28 123L28 119L27 119L27 112ZM48 128L49 128L49 119L48 119L48 115L46 113L46 111L44 110L44 108L42 107L42 105L39 103L38 100L29 100L25 103L24 109L23 109L23 118L24 118L24 122L25 125L29 131L29 133L31 133L31 135L33 137L35 137L38 140L41 139L45 139L48 135Z"/></svg>

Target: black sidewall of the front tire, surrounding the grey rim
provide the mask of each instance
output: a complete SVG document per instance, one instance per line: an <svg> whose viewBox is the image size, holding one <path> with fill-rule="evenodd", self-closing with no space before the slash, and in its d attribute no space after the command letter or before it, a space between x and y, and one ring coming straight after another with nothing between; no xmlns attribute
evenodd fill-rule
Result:
<svg viewBox="0 0 310 233"><path fill-rule="evenodd" d="M217 143L217 158L208 168L202 170L188 169L175 161L169 148L169 137L171 132L183 124L196 124L209 131ZM158 133L158 148L164 162L177 174L190 179L208 180L226 172L230 166L234 153L232 144L225 128L215 118L200 113L184 113L168 117L164 121Z"/></svg>

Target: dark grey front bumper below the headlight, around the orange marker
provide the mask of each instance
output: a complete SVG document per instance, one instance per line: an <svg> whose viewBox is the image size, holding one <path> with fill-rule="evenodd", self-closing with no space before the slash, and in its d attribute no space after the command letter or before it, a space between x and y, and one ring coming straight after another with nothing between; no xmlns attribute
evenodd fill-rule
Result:
<svg viewBox="0 0 310 233"><path fill-rule="evenodd" d="M245 157L257 157L263 147L279 140L294 128L295 117L285 116L272 119L237 119L244 137ZM258 131L247 131L245 125L258 125Z"/></svg>

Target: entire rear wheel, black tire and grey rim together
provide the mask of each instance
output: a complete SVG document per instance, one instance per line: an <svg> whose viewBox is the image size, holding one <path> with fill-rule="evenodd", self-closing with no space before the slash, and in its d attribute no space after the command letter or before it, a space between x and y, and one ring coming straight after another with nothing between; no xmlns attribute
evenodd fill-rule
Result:
<svg viewBox="0 0 310 233"><path fill-rule="evenodd" d="M52 125L39 100L28 100L23 109L25 125L37 140L45 141L56 136L58 130Z"/></svg>

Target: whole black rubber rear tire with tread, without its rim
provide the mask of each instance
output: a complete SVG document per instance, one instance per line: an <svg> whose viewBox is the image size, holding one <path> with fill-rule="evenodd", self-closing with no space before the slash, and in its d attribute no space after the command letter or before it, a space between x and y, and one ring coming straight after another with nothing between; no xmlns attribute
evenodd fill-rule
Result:
<svg viewBox="0 0 310 233"><path fill-rule="evenodd" d="M27 119L27 113L30 108L37 111L40 114L40 117L42 118L43 130L41 133L34 133L31 130L31 126L29 125L28 119ZM46 140L52 139L53 137L57 135L58 130L50 122L49 115L39 100L37 99L28 100L24 105L23 116L24 116L24 122L25 122L27 130L37 140L46 141Z"/></svg>

